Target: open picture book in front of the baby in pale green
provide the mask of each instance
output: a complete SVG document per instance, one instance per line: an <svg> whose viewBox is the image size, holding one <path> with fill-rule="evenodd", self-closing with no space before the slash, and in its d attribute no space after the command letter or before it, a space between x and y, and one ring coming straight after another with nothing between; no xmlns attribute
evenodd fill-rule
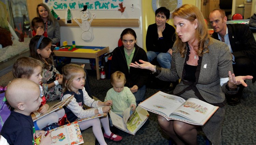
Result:
<svg viewBox="0 0 256 145"><path fill-rule="evenodd" d="M123 117L109 111L112 123L115 127L127 133L135 135L135 133L143 126L148 119L148 112L140 106L130 115L130 107L123 112Z"/></svg>

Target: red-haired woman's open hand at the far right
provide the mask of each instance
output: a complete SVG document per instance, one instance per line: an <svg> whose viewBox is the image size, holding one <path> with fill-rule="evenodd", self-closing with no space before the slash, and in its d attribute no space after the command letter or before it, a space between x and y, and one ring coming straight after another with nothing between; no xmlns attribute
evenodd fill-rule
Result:
<svg viewBox="0 0 256 145"><path fill-rule="evenodd" d="M230 71L228 71L228 75L229 75L228 87L231 89L236 88L236 86L240 85L240 84L247 87L247 84L244 82L244 80L253 78L253 76L251 76L251 75L235 76L233 73L231 74Z"/></svg>

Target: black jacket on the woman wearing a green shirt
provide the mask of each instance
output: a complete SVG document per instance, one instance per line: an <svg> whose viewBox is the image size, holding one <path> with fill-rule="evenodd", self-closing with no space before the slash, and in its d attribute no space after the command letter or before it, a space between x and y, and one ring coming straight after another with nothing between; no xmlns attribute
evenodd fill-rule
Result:
<svg viewBox="0 0 256 145"><path fill-rule="evenodd" d="M147 55L144 49L140 48L137 44L135 46L135 52L132 58L132 62L134 63L139 60L147 61ZM127 66L127 61L125 58L125 52L124 52L124 45L121 47L116 47L113 50L112 55L112 62L111 62L111 74L115 71L121 71L125 74L126 77L126 87L133 87L134 85L137 85L139 88L141 88L143 85L146 85L147 78L150 74L150 71L139 69L139 68L132 68L130 67L130 71Z"/></svg>

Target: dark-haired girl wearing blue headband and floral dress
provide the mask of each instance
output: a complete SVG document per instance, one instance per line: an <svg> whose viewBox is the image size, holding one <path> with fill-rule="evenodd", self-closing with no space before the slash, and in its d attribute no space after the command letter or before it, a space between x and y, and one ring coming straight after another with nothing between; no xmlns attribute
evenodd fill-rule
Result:
<svg viewBox="0 0 256 145"><path fill-rule="evenodd" d="M62 75L54 67L51 59L51 39L36 35L30 40L30 55L43 62L42 86L47 101L59 99L62 94Z"/></svg>

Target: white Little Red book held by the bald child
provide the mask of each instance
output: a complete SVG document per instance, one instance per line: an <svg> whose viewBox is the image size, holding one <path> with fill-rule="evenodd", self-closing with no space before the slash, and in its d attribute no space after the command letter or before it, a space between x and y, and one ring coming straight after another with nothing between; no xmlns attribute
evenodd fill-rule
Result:
<svg viewBox="0 0 256 145"><path fill-rule="evenodd" d="M79 145L84 143L77 121L46 131L45 136L48 132L51 132L52 136L51 145ZM40 144L41 137L35 139L36 144Z"/></svg>

